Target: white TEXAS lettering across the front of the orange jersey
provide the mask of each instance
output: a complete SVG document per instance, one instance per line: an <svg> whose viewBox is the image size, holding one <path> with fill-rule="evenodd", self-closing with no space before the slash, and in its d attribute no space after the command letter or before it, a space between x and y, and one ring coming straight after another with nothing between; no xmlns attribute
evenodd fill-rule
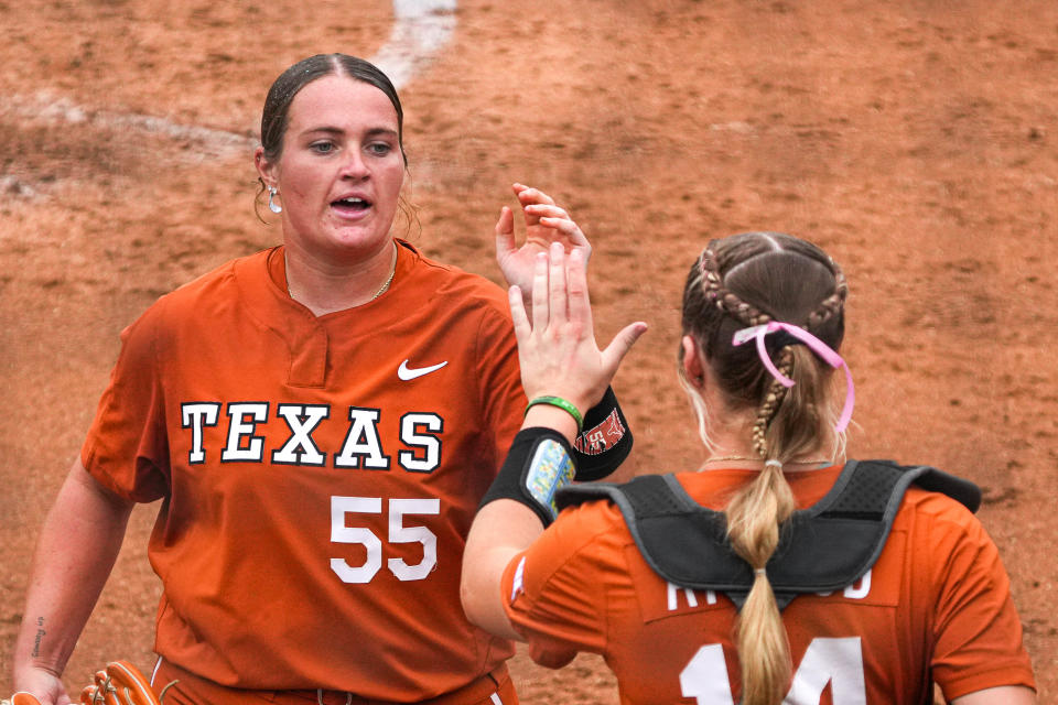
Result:
<svg viewBox="0 0 1058 705"><path fill-rule="evenodd" d="M218 453L222 463L263 463L268 457L274 465L325 467L330 456L335 468L392 467L379 434L380 410L349 406L337 415L332 411L328 404L278 403L272 416L270 402L182 403L181 426L190 432L187 463L202 465ZM335 422L343 423L341 442L335 447L321 446L319 437L338 437ZM435 470L441 465L444 420L433 412L409 412L399 423L397 464L411 473ZM217 432L206 432L214 427ZM207 438L217 447L210 447Z"/></svg>

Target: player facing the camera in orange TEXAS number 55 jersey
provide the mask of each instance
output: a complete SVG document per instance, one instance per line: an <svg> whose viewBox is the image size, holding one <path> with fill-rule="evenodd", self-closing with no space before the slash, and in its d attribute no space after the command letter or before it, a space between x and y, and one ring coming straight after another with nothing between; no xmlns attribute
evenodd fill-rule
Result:
<svg viewBox="0 0 1058 705"><path fill-rule="evenodd" d="M290 67L261 135L283 243L122 334L42 532L15 686L69 702L60 675L129 512L162 500L149 555L163 585L154 686L179 681L168 703L516 703L510 642L471 625L457 594L471 519L526 405L504 292L391 235L402 112L373 65ZM509 210L497 225L511 281L552 240L587 250L548 196L515 192L527 242Z"/></svg>

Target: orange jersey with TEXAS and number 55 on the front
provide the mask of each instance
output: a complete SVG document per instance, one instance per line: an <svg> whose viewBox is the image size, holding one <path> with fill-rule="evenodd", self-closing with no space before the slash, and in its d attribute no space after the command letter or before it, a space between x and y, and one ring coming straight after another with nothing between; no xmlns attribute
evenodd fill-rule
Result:
<svg viewBox="0 0 1058 705"><path fill-rule="evenodd" d="M419 701L512 654L460 566L526 405L504 291L399 242L378 300L315 317L282 248L163 296L82 457L162 499L156 651L223 685Z"/></svg>

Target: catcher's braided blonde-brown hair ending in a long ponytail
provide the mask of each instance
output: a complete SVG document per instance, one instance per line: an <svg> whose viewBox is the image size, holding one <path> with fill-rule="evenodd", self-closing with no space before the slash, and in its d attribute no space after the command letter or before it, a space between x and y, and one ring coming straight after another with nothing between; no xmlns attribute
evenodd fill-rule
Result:
<svg viewBox="0 0 1058 705"><path fill-rule="evenodd" d="M836 350L844 335L849 288L825 252L780 232L745 232L713 240L691 267L683 290L682 326L703 352L730 410L755 409L753 448L765 460L725 508L727 536L755 579L736 622L742 702L775 705L789 685L792 664L775 594L764 567L779 525L796 508L782 464L831 447L836 419L832 369L786 333L765 338L782 386L762 365L753 345L735 346L735 332L778 321L806 328ZM682 369L681 369L682 375ZM708 410L687 384L706 445Z"/></svg>

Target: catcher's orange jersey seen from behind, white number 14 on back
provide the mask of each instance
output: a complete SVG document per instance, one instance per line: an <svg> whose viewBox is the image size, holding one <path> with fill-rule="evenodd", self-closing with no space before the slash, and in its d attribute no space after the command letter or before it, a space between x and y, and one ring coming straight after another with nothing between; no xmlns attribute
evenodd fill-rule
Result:
<svg viewBox="0 0 1058 705"><path fill-rule="evenodd" d="M801 508L840 467L790 473ZM721 509L752 471L678 476L697 501ZM577 651L602 654L622 703L737 703L734 604L679 588L646 563L620 511L594 501L563 511L508 565L507 615L530 654L559 668ZM931 703L998 685L1035 687L998 553L954 500L911 487L871 571L782 611L794 660L787 702Z"/></svg>

